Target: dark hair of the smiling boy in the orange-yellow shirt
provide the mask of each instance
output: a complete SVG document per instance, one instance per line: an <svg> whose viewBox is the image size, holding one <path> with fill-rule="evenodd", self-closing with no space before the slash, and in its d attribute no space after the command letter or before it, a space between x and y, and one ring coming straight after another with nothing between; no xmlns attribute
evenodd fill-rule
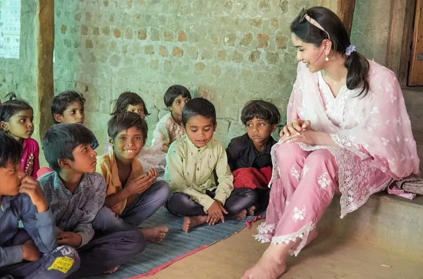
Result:
<svg viewBox="0 0 423 279"><path fill-rule="evenodd" d="M113 140L124 130L135 127L142 132L144 142L147 140L148 126L138 113L126 111L113 115L107 122L107 134Z"/></svg>

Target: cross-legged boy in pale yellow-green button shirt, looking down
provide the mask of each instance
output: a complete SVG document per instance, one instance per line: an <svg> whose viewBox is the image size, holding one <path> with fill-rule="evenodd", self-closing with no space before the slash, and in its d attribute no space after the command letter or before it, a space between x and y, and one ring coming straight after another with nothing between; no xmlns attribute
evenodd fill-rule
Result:
<svg viewBox="0 0 423 279"><path fill-rule="evenodd" d="M165 179L173 192L166 208L184 217L184 232L206 222L224 222L224 215L245 218L257 193L233 188L226 152L212 138L217 125L213 104L204 98L192 99L182 110L182 123L187 134L171 144L166 156Z"/></svg>

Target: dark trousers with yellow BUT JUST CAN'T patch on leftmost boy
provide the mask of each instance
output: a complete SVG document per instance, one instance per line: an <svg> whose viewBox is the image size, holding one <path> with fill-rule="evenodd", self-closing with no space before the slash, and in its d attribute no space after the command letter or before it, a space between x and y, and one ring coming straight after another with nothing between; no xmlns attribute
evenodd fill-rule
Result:
<svg viewBox="0 0 423 279"><path fill-rule="evenodd" d="M23 245L28 240L31 240L31 236L25 230L21 230L9 245ZM0 279L65 279L79 266L80 259L77 251L69 246L59 246L35 262L23 261L0 267Z"/></svg>

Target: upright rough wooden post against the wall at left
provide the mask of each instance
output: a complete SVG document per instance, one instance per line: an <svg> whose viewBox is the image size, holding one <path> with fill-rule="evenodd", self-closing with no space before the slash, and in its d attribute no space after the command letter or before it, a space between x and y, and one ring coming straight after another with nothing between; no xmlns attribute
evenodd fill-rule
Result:
<svg viewBox="0 0 423 279"><path fill-rule="evenodd" d="M50 101L54 97L54 0L38 0L37 95L40 139L53 124Z"/></svg>

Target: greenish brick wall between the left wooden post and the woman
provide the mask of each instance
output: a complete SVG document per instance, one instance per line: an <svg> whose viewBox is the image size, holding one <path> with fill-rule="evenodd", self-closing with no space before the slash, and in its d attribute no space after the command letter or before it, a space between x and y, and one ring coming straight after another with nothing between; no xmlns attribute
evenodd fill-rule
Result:
<svg viewBox="0 0 423 279"><path fill-rule="evenodd" d="M271 98L285 119L296 74L289 23L317 0L56 1L55 92L87 98L86 123L106 141L119 93L139 93L149 136L167 113L163 94L182 84L216 106L215 137L244 133L249 99Z"/></svg>

